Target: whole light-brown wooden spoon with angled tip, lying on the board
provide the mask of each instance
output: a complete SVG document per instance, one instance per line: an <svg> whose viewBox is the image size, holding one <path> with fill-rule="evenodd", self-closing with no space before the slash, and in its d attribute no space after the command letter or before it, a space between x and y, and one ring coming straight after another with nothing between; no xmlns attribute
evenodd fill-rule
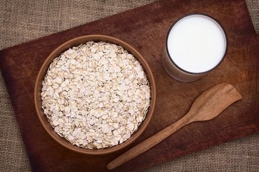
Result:
<svg viewBox="0 0 259 172"><path fill-rule="evenodd" d="M222 83L211 87L193 102L189 112L184 117L115 158L107 165L107 169L114 169L139 156L191 122L215 118L229 105L241 98L242 96L237 89L230 84Z"/></svg>

